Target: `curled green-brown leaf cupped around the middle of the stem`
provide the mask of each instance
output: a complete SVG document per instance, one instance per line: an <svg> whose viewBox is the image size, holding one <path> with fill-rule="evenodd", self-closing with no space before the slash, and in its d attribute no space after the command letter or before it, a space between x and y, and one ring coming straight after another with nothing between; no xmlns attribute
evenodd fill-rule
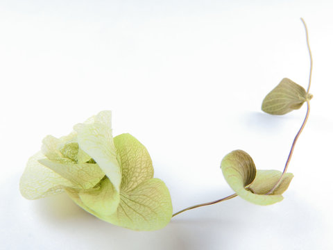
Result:
<svg viewBox="0 0 333 250"><path fill-rule="evenodd" d="M281 172L268 170L256 171L253 159L242 150L235 150L226 155L221 162L221 169L225 181L239 197L257 205L271 205L282 201L282 193L287 190L293 177L286 174L282 183L273 192L267 195L275 183L278 182ZM280 176L278 176L280 173Z"/></svg>

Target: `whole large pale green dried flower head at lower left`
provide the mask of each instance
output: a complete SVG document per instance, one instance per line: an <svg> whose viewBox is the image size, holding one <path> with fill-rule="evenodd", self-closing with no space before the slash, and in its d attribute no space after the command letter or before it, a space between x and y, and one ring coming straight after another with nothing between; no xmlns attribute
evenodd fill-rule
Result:
<svg viewBox="0 0 333 250"><path fill-rule="evenodd" d="M20 190L27 199L65 191L87 212L134 230L157 230L172 215L169 190L153 178L148 151L132 135L112 138L110 111L77 124L67 137L47 136L28 160Z"/></svg>

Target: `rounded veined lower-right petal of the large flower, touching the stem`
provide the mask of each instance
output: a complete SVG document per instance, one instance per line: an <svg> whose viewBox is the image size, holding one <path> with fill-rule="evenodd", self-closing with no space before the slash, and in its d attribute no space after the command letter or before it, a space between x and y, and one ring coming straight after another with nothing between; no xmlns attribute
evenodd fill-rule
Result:
<svg viewBox="0 0 333 250"><path fill-rule="evenodd" d="M137 231L153 231L166 226L172 217L167 186L158 178L148 179L128 193L121 192L117 213L106 221Z"/></svg>

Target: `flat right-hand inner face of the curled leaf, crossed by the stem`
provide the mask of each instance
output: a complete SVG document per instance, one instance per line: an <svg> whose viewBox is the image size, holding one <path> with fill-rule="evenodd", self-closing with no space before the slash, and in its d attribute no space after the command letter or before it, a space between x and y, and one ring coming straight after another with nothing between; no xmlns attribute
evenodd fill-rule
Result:
<svg viewBox="0 0 333 250"><path fill-rule="evenodd" d="M258 170L255 181L248 188L255 192L255 194L266 194L278 183L281 174L282 172L278 170ZM284 174L282 182L275 188L272 194L283 194L287 190L292 178L293 174Z"/></svg>

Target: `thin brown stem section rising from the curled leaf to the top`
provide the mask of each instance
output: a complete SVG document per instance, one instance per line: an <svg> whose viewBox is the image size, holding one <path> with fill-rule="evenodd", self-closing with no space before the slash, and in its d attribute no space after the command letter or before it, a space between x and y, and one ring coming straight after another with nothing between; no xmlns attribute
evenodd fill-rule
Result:
<svg viewBox="0 0 333 250"><path fill-rule="evenodd" d="M291 149L289 151L289 156L287 158L287 162L286 162L286 165L284 165L284 169L283 169L283 172L280 176L280 179L279 181L273 186L273 188L271 190L269 190L268 193L266 194L271 194L274 192L275 188L278 187L278 185L280 185L280 183L282 182L282 178L284 176L284 174L287 172L287 169L288 169L288 165L290 163L290 160L291 160L291 156L293 156L293 149L295 149L295 145L296 145L296 142L298 140L298 138L300 137L300 133L302 133L303 131L303 128L305 127L305 124L307 123L307 119L309 118L309 113L310 113L310 99L312 98L312 95L309 94L309 90L310 90L310 86L311 86L311 76L312 76L312 65L313 65L313 60L312 60L312 54L311 54L311 49L310 49L310 45L309 45L309 35L308 35L308 32L307 32L307 24L305 24L304 22L304 19L301 18L301 21L304 25L304 28L305 28L305 34L306 34L306 37L307 37L307 49L309 51L309 57L310 57L310 74L309 74L309 85L307 87L307 114L305 115L305 118L303 120L303 123L302 123L302 126L300 126L300 129L298 131L298 133L296 134L295 138L293 139L293 144L291 145Z"/></svg>

